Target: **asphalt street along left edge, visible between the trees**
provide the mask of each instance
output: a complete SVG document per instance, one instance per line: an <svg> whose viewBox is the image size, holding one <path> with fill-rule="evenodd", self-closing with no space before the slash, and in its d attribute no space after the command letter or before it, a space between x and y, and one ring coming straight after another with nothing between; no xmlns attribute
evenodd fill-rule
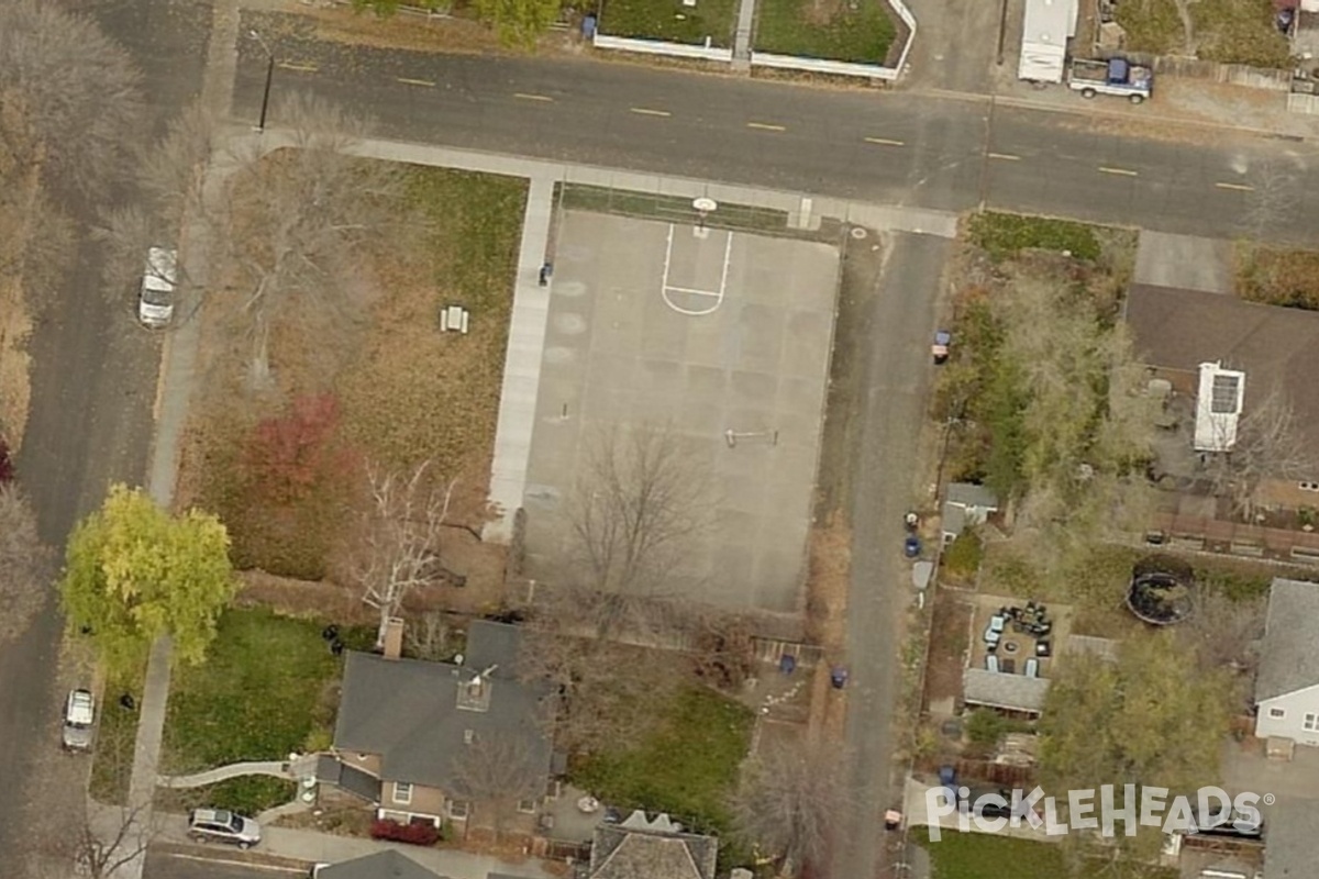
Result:
<svg viewBox="0 0 1319 879"><path fill-rule="evenodd" d="M204 42L210 7L198 0L104 0L92 9L145 71L145 138L199 87L203 57L194 47ZM115 198L131 199L132 192ZM17 456L41 536L61 552L74 523L100 503L111 482L142 481L160 362L160 340L133 320L135 291L102 289L100 254L86 239L96 208L79 200L65 207L79 223L79 240L63 283L33 290L40 314L29 344L32 409ZM51 784L36 758L58 735L61 627L51 600L28 631L0 643L0 778L8 791L0 797L0 850L9 853L32 838L25 821L49 829L51 814L82 809L79 787Z"/></svg>

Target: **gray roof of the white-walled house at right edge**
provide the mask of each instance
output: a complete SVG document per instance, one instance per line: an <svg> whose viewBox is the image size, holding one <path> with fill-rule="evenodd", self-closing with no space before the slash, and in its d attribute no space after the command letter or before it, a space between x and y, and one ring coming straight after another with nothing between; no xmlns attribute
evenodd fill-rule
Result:
<svg viewBox="0 0 1319 879"><path fill-rule="evenodd" d="M1319 684L1319 584L1278 577L1269 588L1269 615L1260 644L1254 701Z"/></svg>

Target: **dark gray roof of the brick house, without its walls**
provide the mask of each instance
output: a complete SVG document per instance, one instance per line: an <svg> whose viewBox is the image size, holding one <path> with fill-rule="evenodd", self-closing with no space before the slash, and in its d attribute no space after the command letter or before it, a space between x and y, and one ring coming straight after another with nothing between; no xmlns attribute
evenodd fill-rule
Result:
<svg viewBox="0 0 1319 879"><path fill-rule="evenodd" d="M513 630L512 637L508 630ZM484 643L487 638L493 639L493 648ZM468 630L470 656L489 659L509 648L516 658L513 626L480 623ZM468 730L477 739L517 735L526 742L534 766L543 766L549 775L551 747L542 726L551 692L549 685L522 683L513 677L510 667L501 666L485 683L488 710L458 708L459 687L484 668L488 666L476 668L471 662L459 668L448 663L350 652L335 722L335 747L379 754L380 776L385 780L451 789L455 756L462 755Z"/></svg>

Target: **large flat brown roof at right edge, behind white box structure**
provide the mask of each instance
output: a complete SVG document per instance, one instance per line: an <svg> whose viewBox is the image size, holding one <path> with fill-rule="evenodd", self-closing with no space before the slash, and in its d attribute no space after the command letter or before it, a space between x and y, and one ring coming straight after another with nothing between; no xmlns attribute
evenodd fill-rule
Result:
<svg viewBox="0 0 1319 879"><path fill-rule="evenodd" d="M1245 412L1278 389L1298 422L1319 427L1319 314L1198 290L1133 285L1126 323L1150 366L1196 370L1221 361L1245 380Z"/></svg>

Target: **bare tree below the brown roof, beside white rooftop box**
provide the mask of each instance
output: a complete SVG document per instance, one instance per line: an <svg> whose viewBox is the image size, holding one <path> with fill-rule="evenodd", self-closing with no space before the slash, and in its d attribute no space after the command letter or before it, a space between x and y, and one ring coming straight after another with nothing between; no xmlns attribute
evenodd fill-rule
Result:
<svg viewBox="0 0 1319 879"><path fill-rule="evenodd" d="M1297 481L1312 478L1316 456L1286 398L1273 390L1258 403L1248 405L1237 419L1236 436L1228 436L1225 423L1220 445L1225 452L1200 455L1200 473L1215 496L1227 498L1245 517L1254 511L1256 494L1265 480Z"/></svg>

